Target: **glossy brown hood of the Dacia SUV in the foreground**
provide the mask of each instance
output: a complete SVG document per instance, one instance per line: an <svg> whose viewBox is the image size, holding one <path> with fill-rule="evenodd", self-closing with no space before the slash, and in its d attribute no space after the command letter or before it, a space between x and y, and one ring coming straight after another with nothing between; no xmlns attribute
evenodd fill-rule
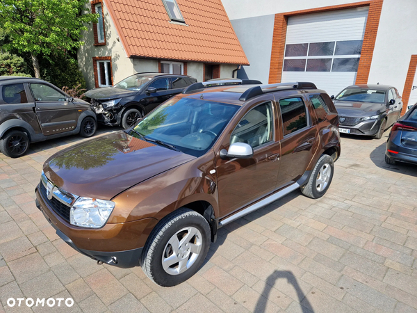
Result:
<svg viewBox="0 0 417 313"><path fill-rule="evenodd" d="M64 191L108 200L192 159L195 157L120 131L54 154L44 163L43 170Z"/></svg>

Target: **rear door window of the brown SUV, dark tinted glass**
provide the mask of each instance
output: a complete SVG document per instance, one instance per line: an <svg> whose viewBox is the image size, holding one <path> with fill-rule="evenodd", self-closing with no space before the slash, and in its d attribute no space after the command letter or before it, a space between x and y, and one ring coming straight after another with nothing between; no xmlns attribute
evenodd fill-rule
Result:
<svg viewBox="0 0 417 313"><path fill-rule="evenodd" d="M284 136L307 126L306 106L300 97L279 100Z"/></svg>

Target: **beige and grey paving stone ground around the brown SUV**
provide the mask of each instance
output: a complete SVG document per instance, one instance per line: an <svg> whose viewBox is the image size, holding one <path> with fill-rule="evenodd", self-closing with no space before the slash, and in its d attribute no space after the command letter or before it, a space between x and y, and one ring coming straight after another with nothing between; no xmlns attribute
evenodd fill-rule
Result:
<svg viewBox="0 0 417 313"><path fill-rule="evenodd" d="M97 266L35 207L42 163L79 137L34 144L21 159L0 154L3 310L417 312L417 166L384 163L387 135L343 137L323 198L294 192L220 229L203 268L172 288L141 268ZM74 305L8 307L10 297L71 297Z"/></svg>

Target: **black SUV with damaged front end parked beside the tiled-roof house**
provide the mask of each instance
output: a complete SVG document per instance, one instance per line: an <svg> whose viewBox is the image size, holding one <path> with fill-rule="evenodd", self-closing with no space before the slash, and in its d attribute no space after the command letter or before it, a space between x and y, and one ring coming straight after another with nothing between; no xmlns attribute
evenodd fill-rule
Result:
<svg viewBox="0 0 417 313"><path fill-rule="evenodd" d="M127 129L156 106L196 82L197 79L186 75L138 73L113 87L89 90L85 96L90 98L99 122Z"/></svg>

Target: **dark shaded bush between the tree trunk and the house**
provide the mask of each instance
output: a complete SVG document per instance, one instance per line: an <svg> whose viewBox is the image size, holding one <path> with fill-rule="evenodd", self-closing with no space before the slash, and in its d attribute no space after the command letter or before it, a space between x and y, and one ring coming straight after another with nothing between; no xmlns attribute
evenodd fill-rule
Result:
<svg viewBox="0 0 417 313"><path fill-rule="evenodd" d="M74 59L63 55L53 55L49 58L40 58L42 79L53 83L58 88L85 88L83 73L79 70L78 63Z"/></svg>

